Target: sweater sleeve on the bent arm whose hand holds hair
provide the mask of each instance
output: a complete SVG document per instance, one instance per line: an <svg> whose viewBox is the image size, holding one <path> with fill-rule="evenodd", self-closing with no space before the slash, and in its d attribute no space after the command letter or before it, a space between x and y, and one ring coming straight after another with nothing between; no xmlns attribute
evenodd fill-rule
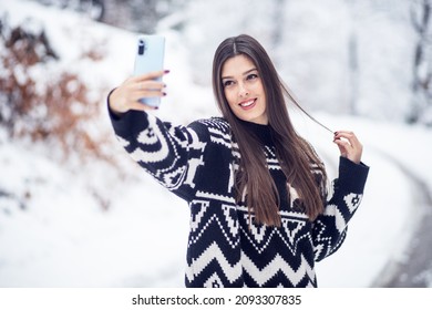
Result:
<svg viewBox="0 0 432 310"><path fill-rule="evenodd" d="M339 249L346 236L348 221L358 209L369 167L340 157L339 176L331 183L325 210L312 223L312 241L317 261Z"/></svg>

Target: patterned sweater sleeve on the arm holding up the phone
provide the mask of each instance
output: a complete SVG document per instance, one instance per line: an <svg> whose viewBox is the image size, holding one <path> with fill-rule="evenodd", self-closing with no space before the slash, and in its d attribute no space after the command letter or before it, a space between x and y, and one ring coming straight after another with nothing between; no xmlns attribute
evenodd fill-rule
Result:
<svg viewBox="0 0 432 310"><path fill-rule="evenodd" d="M197 172L204 164L207 127L199 122L173 126L140 111L119 117L109 107L109 114L119 142L131 157L160 184L191 200Z"/></svg>

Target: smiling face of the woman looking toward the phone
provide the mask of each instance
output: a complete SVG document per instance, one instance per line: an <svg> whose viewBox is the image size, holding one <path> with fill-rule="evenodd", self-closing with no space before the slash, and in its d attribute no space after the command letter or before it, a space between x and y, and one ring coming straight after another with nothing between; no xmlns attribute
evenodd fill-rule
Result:
<svg viewBox="0 0 432 310"><path fill-rule="evenodd" d="M254 62L240 54L225 61L222 84L233 113L240 120L267 125L266 93Z"/></svg>

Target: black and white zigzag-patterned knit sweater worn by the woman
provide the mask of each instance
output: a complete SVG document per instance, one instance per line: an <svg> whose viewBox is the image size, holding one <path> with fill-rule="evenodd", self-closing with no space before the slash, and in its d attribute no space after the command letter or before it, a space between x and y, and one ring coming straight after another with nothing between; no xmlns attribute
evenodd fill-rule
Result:
<svg viewBox="0 0 432 310"><path fill-rule="evenodd" d="M133 159L189 205L186 287L317 287L315 261L343 242L362 197L366 165L340 157L325 213L310 221L296 190L286 186L269 126L250 123L280 192L281 226L250 224L247 207L235 200L240 153L224 118L173 126L143 112L110 115Z"/></svg>

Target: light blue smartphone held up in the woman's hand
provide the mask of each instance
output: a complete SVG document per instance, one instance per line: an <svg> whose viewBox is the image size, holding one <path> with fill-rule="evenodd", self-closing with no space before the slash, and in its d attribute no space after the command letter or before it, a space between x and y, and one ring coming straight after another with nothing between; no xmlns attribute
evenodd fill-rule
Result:
<svg viewBox="0 0 432 310"><path fill-rule="evenodd" d="M140 35L137 39L134 75L164 70L165 38L162 35ZM162 78L156 79L162 81ZM143 97L140 102L160 106L161 97Z"/></svg>

